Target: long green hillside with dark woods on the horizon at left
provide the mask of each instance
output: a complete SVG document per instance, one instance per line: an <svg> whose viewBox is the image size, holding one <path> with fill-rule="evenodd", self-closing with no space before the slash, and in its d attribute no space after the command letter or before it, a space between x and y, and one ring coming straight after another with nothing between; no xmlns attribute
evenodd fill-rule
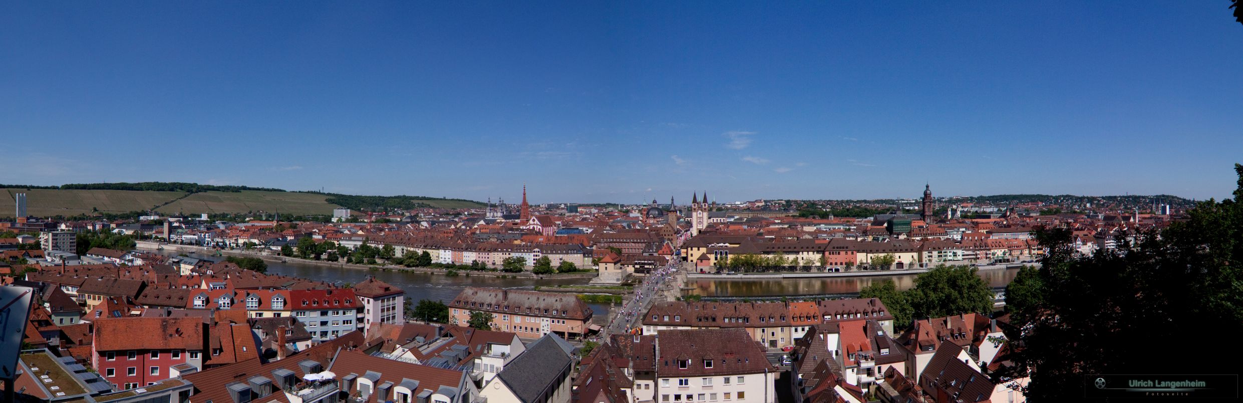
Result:
<svg viewBox="0 0 1243 403"><path fill-rule="evenodd" d="M484 203L426 196L355 196L286 191L250 186L188 182L68 184L62 186L0 185L0 217L12 217L14 193L26 193L26 212L36 217L128 213L154 210L170 215L280 212L332 215L337 207L354 211L392 208L475 208Z"/></svg>

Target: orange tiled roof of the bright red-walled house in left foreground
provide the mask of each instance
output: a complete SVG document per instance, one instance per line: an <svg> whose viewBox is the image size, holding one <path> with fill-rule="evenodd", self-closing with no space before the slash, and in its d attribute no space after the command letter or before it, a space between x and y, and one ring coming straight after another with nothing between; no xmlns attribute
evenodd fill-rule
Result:
<svg viewBox="0 0 1243 403"><path fill-rule="evenodd" d="M108 317L94 322L94 350L203 350L204 325L196 317Z"/></svg>

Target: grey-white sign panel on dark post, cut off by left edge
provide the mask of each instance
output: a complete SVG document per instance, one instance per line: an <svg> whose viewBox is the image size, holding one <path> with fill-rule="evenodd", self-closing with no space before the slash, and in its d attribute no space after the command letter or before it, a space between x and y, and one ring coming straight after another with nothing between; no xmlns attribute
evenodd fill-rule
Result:
<svg viewBox="0 0 1243 403"><path fill-rule="evenodd" d="M12 402L16 396L17 357L21 356L34 294L29 286L0 286L0 379L4 379L5 402Z"/></svg>

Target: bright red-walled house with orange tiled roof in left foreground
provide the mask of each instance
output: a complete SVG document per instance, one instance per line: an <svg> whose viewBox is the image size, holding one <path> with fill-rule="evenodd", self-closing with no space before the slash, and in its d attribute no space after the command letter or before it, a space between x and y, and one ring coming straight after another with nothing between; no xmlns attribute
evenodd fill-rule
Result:
<svg viewBox="0 0 1243 403"><path fill-rule="evenodd" d="M201 370L206 325L199 317L111 317L94 322L91 365L118 389L170 377L173 366Z"/></svg>

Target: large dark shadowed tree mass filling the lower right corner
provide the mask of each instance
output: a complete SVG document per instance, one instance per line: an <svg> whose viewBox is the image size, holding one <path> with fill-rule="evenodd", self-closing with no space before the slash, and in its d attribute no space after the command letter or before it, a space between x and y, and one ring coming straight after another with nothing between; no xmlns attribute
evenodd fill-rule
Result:
<svg viewBox="0 0 1243 403"><path fill-rule="evenodd" d="M1203 201L1160 231L1116 238L1116 249L1084 255L1068 228L1033 231L1048 253L1024 280L1006 339L1023 346L998 379L1030 376L1032 401L1083 398L1066 388L1089 373L1234 373L1233 360L1154 357L1152 341L1186 341L1243 331L1243 165L1233 200ZM1018 280L1018 279L1016 279ZM1028 368L1035 368L1028 372Z"/></svg>

